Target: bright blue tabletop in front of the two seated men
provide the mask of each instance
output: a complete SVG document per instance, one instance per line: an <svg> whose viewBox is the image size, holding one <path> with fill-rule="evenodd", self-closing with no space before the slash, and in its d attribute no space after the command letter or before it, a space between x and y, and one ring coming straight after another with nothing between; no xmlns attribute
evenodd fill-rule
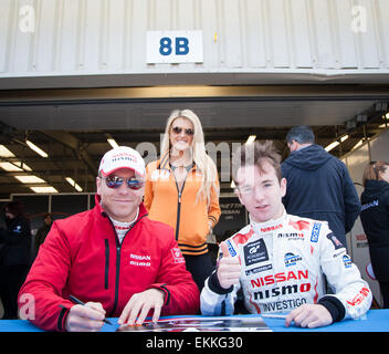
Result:
<svg viewBox="0 0 389 354"><path fill-rule="evenodd" d="M253 315L248 315L253 316ZM282 319L264 319L273 332L389 332L389 310L370 310L366 320L346 320L318 329L284 326ZM115 332L118 319L109 319L113 325L104 324L102 332ZM0 320L0 332L43 332L25 320Z"/></svg>

